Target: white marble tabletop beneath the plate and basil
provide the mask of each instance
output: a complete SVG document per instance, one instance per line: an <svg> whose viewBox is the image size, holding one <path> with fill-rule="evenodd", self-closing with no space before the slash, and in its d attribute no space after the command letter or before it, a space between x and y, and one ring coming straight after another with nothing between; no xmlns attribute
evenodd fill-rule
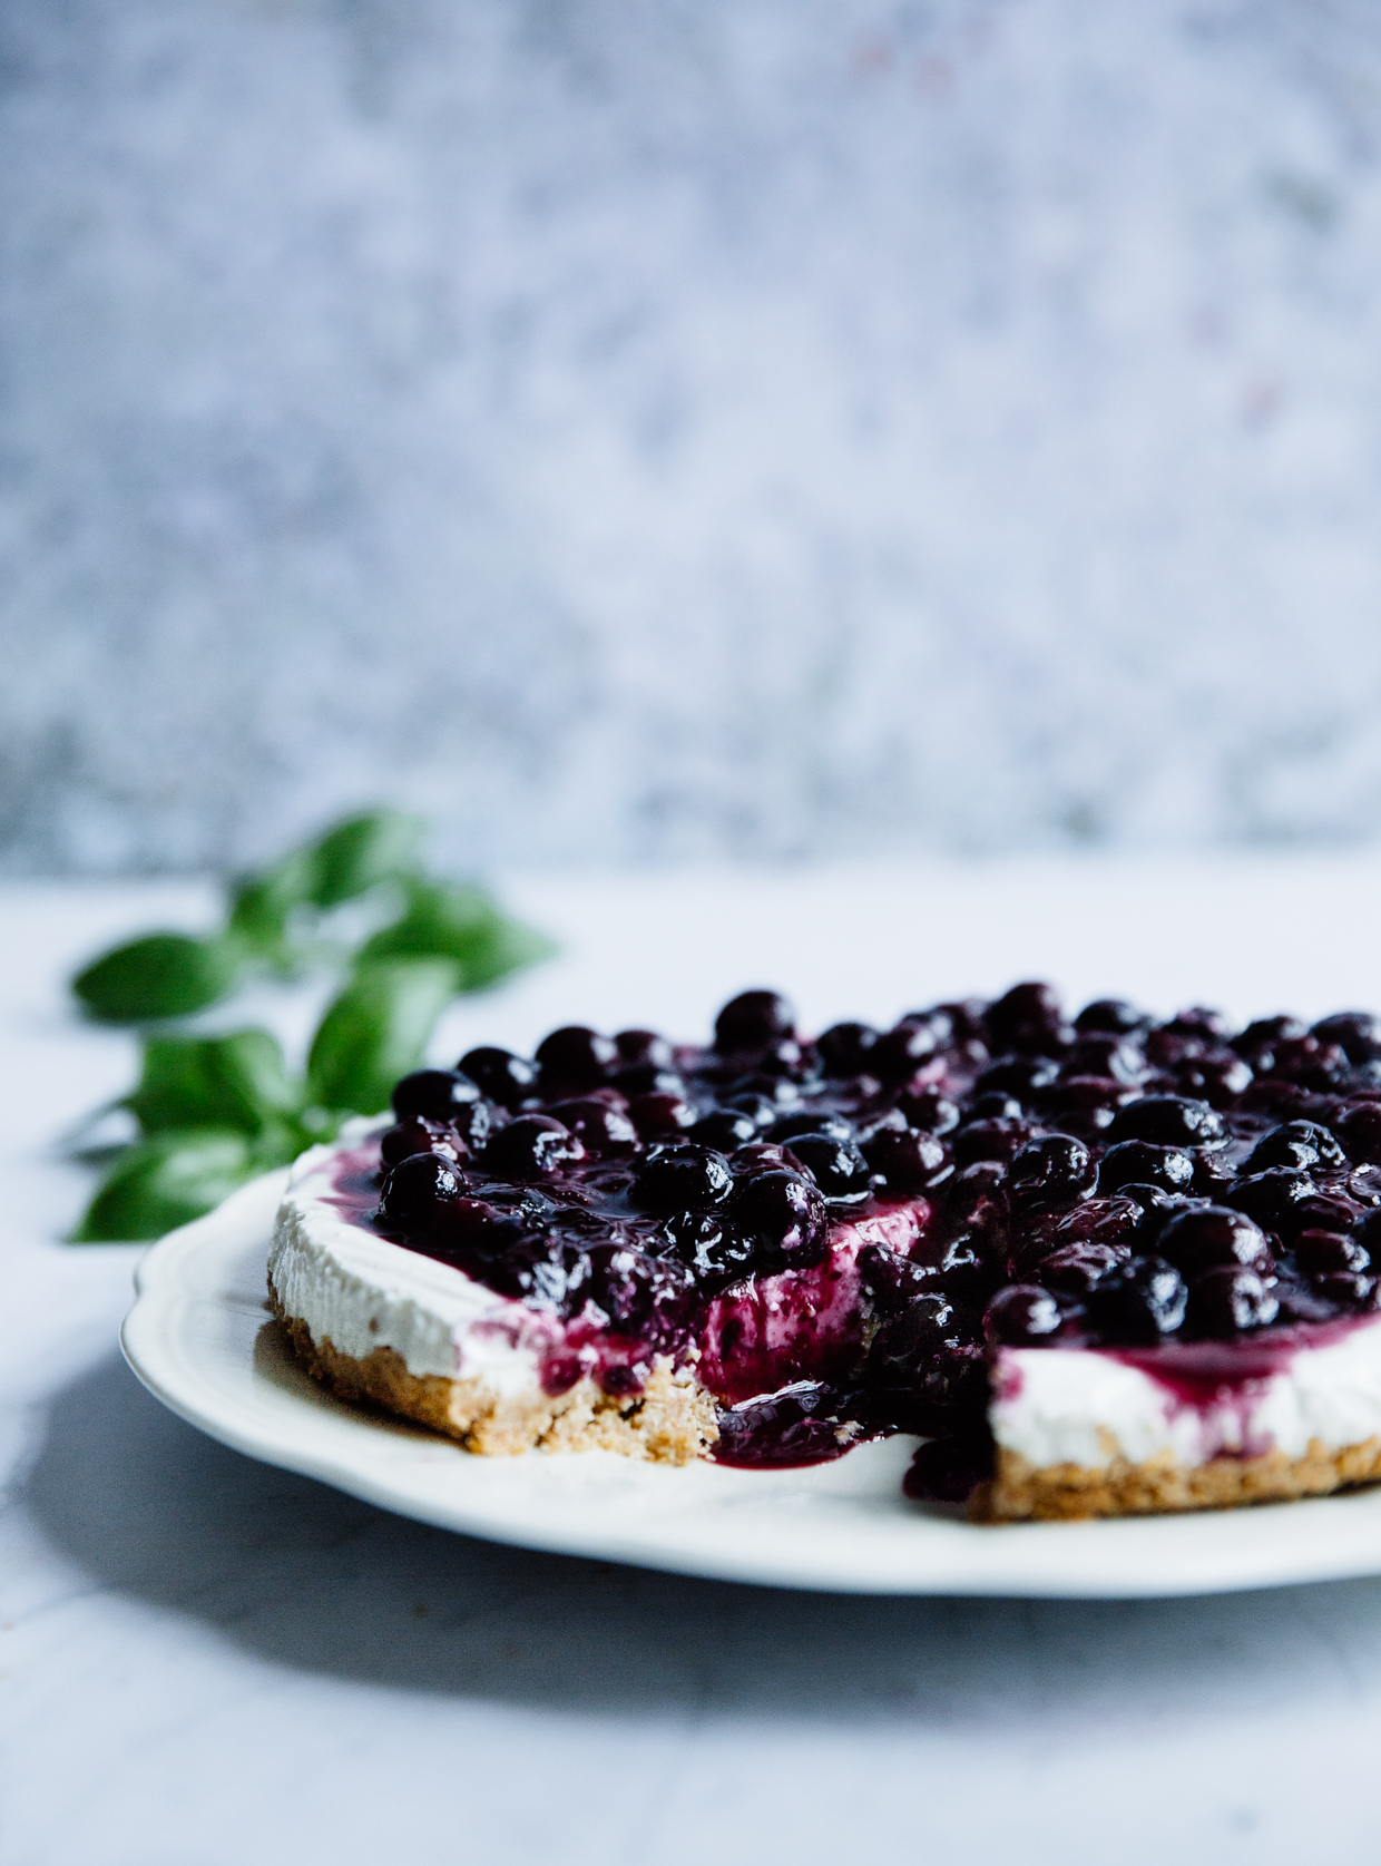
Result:
<svg viewBox="0 0 1381 1866"><path fill-rule="evenodd" d="M565 957L465 1006L444 1049L571 1013L696 1028L769 978L812 1023L1041 970L1166 1008L1381 1002L1381 875L1344 860L513 898ZM1381 1581L1133 1605L689 1582L429 1532L166 1414L114 1347L136 1252L56 1243L82 1181L54 1135L129 1067L60 978L202 907L0 894L6 1866L1370 1866Z"/></svg>

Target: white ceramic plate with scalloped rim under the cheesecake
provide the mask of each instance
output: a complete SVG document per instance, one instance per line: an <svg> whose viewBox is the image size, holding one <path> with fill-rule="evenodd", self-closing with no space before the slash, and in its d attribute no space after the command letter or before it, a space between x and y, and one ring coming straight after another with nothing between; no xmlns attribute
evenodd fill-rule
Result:
<svg viewBox="0 0 1381 1866"><path fill-rule="evenodd" d="M1381 1489L1262 1510L976 1528L901 1497L913 1439L806 1470L672 1470L610 1452L472 1457L356 1413L265 1306L284 1174L144 1258L121 1342L164 1405L222 1444L440 1528L724 1581L847 1594L1165 1595L1381 1573Z"/></svg>

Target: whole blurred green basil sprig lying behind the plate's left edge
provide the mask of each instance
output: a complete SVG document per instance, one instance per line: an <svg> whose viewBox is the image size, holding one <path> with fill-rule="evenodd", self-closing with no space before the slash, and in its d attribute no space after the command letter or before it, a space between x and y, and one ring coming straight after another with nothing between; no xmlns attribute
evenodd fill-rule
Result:
<svg viewBox="0 0 1381 1866"><path fill-rule="evenodd" d="M237 1185L330 1140L351 1114L377 1114L422 1062L446 1004L556 948L480 888L422 871L416 817L340 823L230 890L226 924L203 939L149 933L88 965L73 991L103 1023L153 1024L142 1067L116 1107L138 1123L75 1232L75 1243L159 1237L211 1211ZM330 939L347 903L375 907L373 931ZM187 1032L192 1017L258 976L345 972L295 1075L259 1028Z"/></svg>

